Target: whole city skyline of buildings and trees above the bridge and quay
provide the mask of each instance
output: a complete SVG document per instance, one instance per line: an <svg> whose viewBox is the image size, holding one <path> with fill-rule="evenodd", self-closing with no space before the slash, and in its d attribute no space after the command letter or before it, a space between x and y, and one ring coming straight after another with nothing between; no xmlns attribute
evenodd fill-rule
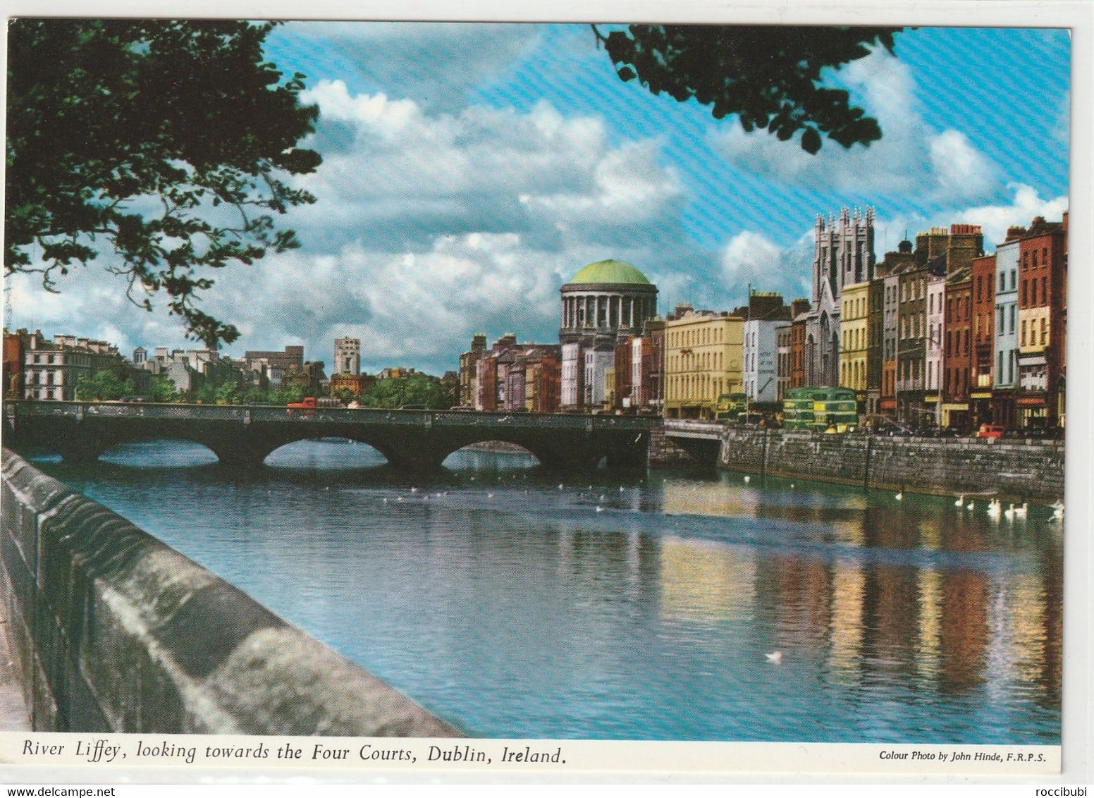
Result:
<svg viewBox="0 0 1094 798"><path fill-rule="evenodd" d="M973 224L932 228L877 262L871 209L817 217L811 299L749 291L733 310L677 304L631 264L600 261L560 288L558 343L476 334L457 369L333 371L302 346L143 347L4 333L9 398L612 413L841 432L1059 437L1064 426L1067 230L1034 219L985 254ZM826 393L827 392L827 393ZM804 405L802 404L804 402ZM795 409L791 413L791 406ZM804 410L796 408L804 406Z"/></svg>

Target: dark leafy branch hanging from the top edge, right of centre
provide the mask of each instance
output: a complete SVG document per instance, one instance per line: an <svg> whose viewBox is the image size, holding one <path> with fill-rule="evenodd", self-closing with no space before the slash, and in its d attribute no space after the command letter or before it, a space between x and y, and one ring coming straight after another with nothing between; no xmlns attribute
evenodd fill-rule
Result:
<svg viewBox="0 0 1094 798"><path fill-rule="evenodd" d="M711 106L715 119L736 114L746 131L767 129L781 141L802 131L807 152L821 135L843 147L882 137L877 120L854 107L842 89L823 85L822 71L870 54L893 51L899 27L783 25L629 25L604 35L616 72L653 94Z"/></svg>

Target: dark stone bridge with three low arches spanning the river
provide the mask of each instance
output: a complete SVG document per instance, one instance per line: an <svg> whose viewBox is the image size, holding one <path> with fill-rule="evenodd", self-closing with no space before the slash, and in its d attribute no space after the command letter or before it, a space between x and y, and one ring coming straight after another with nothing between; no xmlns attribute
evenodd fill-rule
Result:
<svg viewBox="0 0 1094 798"><path fill-rule="evenodd" d="M222 463L261 464L275 449L310 438L368 443L397 469L437 469L473 443L505 441L550 469L644 467L653 419L531 413L292 409L265 405L175 405L10 402L5 433L15 446L38 446L66 460L94 460L118 443L182 439L212 450Z"/></svg>

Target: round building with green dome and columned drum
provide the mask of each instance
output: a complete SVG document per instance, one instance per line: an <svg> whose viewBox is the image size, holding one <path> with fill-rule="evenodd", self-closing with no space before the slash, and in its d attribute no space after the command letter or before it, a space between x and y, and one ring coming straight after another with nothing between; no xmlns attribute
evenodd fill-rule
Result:
<svg viewBox="0 0 1094 798"><path fill-rule="evenodd" d="M561 296L561 406L594 407L604 402L616 347L656 316L657 287L629 263L597 261L562 286Z"/></svg>

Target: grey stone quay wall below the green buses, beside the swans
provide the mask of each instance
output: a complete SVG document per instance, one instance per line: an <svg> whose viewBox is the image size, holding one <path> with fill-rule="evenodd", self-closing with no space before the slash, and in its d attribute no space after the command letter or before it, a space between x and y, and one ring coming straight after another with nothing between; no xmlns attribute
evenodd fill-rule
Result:
<svg viewBox="0 0 1094 798"><path fill-rule="evenodd" d="M1059 441L728 428L718 464L749 474L922 494L992 494L1034 504L1063 499Z"/></svg>

